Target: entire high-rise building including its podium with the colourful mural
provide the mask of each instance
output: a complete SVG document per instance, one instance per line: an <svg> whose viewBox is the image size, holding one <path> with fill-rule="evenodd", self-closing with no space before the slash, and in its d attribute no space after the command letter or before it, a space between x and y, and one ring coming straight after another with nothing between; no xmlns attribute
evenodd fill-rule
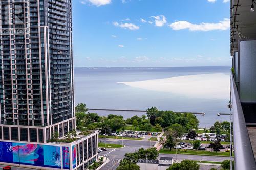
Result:
<svg viewBox="0 0 256 170"><path fill-rule="evenodd" d="M1 0L0 9L1 164L86 169L97 131L66 135L76 127L71 0Z"/></svg>

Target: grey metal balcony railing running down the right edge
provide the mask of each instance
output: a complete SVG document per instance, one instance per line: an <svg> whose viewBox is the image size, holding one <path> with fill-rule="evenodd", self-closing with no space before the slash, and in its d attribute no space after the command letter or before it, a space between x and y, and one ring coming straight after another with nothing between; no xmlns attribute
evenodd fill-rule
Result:
<svg viewBox="0 0 256 170"><path fill-rule="evenodd" d="M233 74L231 74L231 101L233 114L235 169L256 169L255 158Z"/></svg>

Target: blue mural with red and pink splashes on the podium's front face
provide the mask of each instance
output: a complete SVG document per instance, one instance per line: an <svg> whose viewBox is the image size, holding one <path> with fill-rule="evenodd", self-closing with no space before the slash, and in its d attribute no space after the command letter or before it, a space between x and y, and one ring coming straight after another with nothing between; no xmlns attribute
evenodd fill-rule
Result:
<svg viewBox="0 0 256 170"><path fill-rule="evenodd" d="M69 152L63 157L64 161L69 163ZM0 142L0 162L60 168L60 147L31 143ZM65 168L69 168L69 164Z"/></svg>

